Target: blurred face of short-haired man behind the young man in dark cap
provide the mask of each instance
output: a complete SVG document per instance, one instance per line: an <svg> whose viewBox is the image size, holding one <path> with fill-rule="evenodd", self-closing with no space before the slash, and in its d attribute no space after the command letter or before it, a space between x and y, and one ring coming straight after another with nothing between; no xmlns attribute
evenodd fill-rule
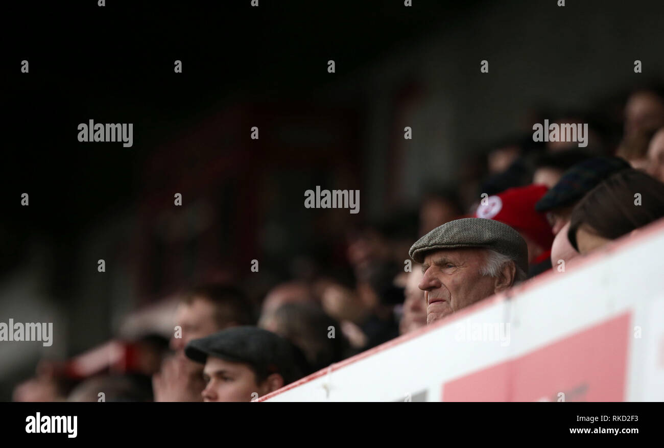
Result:
<svg viewBox="0 0 664 448"><path fill-rule="evenodd" d="M214 305L204 298L181 303L175 313L175 325L182 327L181 338L171 338L173 350L184 350L192 339L204 338L220 330L214 321Z"/></svg>

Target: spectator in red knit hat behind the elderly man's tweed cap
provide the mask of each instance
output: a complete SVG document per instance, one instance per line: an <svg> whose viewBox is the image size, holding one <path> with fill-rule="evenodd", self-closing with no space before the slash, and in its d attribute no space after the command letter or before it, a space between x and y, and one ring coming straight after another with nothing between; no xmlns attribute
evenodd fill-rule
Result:
<svg viewBox="0 0 664 448"><path fill-rule="evenodd" d="M551 228L546 216L535 211L535 203L547 190L545 185L509 188L500 194L485 198L475 211L475 218L503 222L521 234L528 245L531 276L551 267L550 250L553 242Z"/></svg>

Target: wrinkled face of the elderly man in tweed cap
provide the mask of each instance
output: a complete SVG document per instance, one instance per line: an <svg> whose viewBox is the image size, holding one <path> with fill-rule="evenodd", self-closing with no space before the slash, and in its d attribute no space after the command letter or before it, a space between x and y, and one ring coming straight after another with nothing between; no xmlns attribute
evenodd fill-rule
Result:
<svg viewBox="0 0 664 448"><path fill-rule="evenodd" d="M495 293L494 279L480 273L485 254L481 249L439 250L424 258L419 287L427 325Z"/></svg>

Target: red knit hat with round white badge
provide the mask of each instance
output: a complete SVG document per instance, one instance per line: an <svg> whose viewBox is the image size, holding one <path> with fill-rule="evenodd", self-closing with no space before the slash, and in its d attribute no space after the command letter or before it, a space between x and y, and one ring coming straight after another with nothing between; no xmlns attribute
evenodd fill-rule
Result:
<svg viewBox="0 0 664 448"><path fill-rule="evenodd" d="M549 250L554 235L548 225L546 214L535 211L535 203L544 196L546 185L527 185L527 187L509 188L495 196L481 201L476 218L495 219L515 228L528 238Z"/></svg>

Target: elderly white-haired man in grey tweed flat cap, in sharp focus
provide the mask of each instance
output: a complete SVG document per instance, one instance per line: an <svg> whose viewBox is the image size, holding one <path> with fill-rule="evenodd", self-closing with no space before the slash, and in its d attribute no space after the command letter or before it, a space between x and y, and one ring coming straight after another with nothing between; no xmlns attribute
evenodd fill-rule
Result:
<svg viewBox="0 0 664 448"><path fill-rule="evenodd" d="M426 323L438 321L526 278L528 245L502 222L463 218L435 228L408 252L422 263Z"/></svg>

